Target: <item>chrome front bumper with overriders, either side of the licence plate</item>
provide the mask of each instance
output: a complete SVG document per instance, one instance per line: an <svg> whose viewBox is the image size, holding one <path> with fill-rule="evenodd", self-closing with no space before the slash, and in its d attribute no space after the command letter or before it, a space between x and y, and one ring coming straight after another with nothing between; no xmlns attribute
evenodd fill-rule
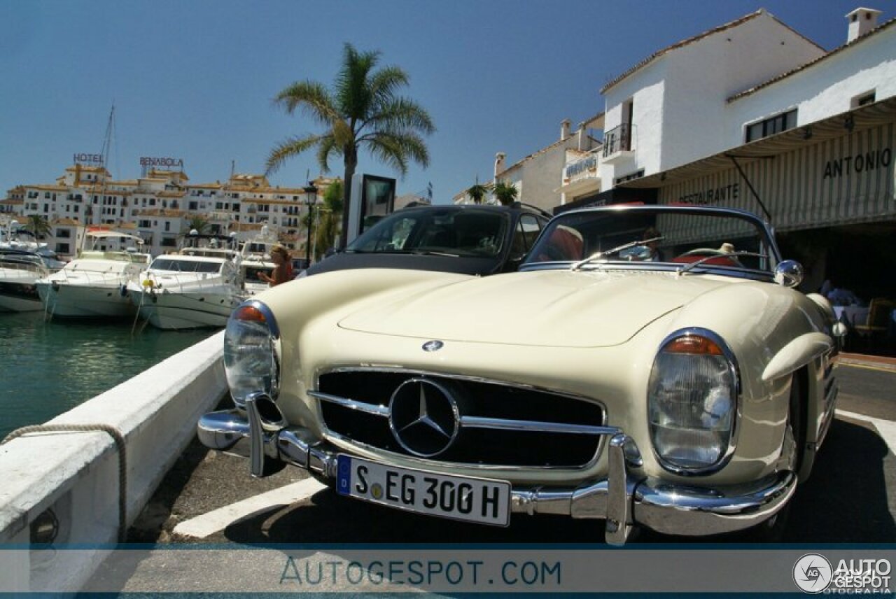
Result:
<svg viewBox="0 0 896 599"><path fill-rule="evenodd" d="M197 430L210 449L228 449L248 438L252 475L270 475L291 464L331 485L336 480L339 449L306 428L288 426L267 396L248 398L245 412L230 409L203 415ZM511 512L605 519L606 542L622 545L635 525L667 535L744 530L774 516L796 490L797 476L792 472L717 489L634 475L625 455L625 446L631 444L625 432L610 435L606 479L574 487L514 486Z"/></svg>

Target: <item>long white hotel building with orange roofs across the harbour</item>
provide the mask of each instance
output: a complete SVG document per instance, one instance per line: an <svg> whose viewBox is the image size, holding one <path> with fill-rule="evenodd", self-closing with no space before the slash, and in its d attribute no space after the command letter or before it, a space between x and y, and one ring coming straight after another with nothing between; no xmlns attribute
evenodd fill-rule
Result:
<svg viewBox="0 0 896 599"><path fill-rule="evenodd" d="M231 175L226 183L190 184L183 171L151 169L138 179L115 180L105 167L75 164L55 184L21 184L0 200L0 214L24 223L46 218L50 248L73 256L88 227L139 235L153 255L176 250L191 222L202 218L209 233L236 233L241 240L261 227L293 249L305 247L305 215L321 202L332 179L318 177L314 192L272 186L263 175Z"/></svg>

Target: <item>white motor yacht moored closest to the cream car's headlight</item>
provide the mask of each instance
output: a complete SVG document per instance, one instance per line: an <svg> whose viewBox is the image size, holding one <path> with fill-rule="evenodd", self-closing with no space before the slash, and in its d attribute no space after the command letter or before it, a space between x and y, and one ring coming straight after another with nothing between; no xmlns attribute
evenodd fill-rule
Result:
<svg viewBox="0 0 896 599"><path fill-rule="evenodd" d="M226 326L245 295L232 241L220 235L186 235L180 252L153 260L127 284L140 318L159 329Z"/></svg>

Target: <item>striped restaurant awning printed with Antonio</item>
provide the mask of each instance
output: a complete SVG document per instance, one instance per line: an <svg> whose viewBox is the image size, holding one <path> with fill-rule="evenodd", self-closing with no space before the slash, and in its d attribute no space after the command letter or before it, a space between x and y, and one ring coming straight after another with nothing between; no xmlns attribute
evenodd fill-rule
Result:
<svg viewBox="0 0 896 599"><path fill-rule="evenodd" d="M621 186L657 188L664 204L758 214L764 205L780 231L893 220L894 154L896 98L889 98Z"/></svg>

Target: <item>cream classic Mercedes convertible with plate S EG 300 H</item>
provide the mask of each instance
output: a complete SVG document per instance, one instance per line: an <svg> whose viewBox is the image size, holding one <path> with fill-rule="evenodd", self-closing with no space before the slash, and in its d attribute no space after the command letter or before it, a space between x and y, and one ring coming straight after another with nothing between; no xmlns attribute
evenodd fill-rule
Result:
<svg viewBox="0 0 896 599"><path fill-rule="evenodd" d="M843 331L801 277L751 213L624 206L557 216L519 272L293 281L233 312L235 407L199 435L436 517L773 530L837 395Z"/></svg>

